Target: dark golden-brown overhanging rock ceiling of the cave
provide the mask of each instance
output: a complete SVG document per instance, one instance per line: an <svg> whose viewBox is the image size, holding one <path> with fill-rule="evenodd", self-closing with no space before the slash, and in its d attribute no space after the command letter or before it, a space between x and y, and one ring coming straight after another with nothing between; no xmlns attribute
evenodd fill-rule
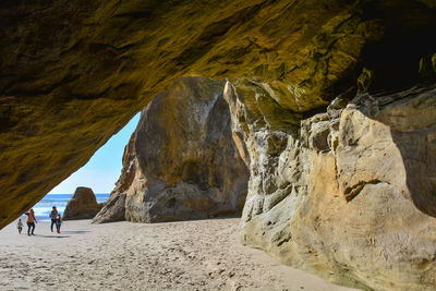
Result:
<svg viewBox="0 0 436 291"><path fill-rule="evenodd" d="M431 0L1 1L0 228L181 76L231 78L282 130L363 72L415 83L435 19Z"/></svg>

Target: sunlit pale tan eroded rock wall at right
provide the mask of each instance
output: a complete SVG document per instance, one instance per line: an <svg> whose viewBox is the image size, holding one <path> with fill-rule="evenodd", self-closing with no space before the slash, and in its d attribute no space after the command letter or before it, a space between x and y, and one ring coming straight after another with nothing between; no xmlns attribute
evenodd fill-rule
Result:
<svg viewBox="0 0 436 291"><path fill-rule="evenodd" d="M244 244L340 284L436 288L434 85L338 99L288 132L240 122L230 84L226 98L251 158Z"/></svg>

